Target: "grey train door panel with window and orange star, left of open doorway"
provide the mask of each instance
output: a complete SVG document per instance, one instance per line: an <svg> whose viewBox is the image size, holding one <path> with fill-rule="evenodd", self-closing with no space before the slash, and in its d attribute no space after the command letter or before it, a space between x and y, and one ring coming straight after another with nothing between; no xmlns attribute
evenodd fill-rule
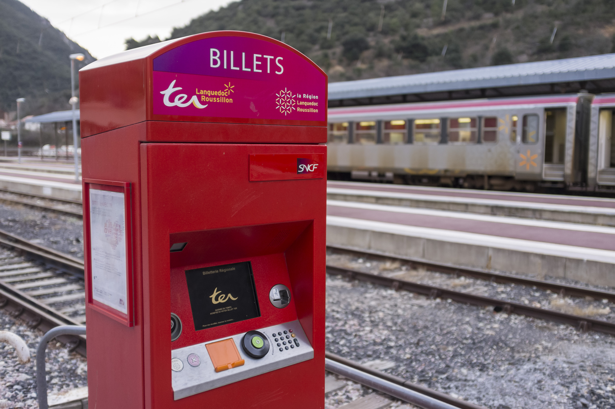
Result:
<svg viewBox="0 0 615 409"><path fill-rule="evenodd" d="M540 116L538 113L522 113L518 116L520 138L517 138L515 160L516 179L539 180L542 177L542 144Z"/></svg>

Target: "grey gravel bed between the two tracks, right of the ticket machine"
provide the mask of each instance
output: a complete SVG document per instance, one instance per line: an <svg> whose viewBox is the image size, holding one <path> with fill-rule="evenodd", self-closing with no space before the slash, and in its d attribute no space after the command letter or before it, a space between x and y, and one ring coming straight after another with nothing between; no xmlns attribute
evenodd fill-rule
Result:
<svg viewBox="0 0 615 409"><path fill-rule="evenodd" d="M390 361L387 373L488 408L615 408L605 334L338 276L327 278L326 325L327 350Z"/></svg>

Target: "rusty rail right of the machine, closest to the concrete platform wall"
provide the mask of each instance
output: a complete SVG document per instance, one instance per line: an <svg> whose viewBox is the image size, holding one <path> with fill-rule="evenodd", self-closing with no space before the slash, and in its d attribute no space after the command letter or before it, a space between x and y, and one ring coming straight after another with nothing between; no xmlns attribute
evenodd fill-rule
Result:
<svg viewBox="0 0 615 409"><path fill-rule="evenodd" d="M535 278L496 273L489 270L475 269L472 267L461 267L459 265L427 261L416 257L397 256L395 254L373 250L363 250L339 245L327 245L327 248L343 253L357 254L362 257L367 255L379 259L401 261L409 264L411 267L426 267L430 271L438 273L478 278L480 280L493 281L494 283L520 284L530 287L535 286L536 288L541 288L542 290L553 291L554 293L560 294L560 296L592 297L593 299L608 299L611 302L615 302L615 293L611 291L592 290L581 286L555 283L554 281L536 280Z"/></svg>

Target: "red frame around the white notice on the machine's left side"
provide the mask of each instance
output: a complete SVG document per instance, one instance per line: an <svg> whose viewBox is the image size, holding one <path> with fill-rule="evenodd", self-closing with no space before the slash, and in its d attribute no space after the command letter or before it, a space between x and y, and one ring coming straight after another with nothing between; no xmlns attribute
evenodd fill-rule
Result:
<svg viewBox="0 0 615 409"><path fill-rule="evenodd" d="M124 215L126 232L126 310L127 314L109 307L92 297L92 254L90 240L90 188L124 193ZM129 182L114 182L113 180L83 179L83 224L84 255L85 255L85 303L93 310L100 312L126 326L134 326L133 297L133 251L132 251L132 195Z"/></svg>

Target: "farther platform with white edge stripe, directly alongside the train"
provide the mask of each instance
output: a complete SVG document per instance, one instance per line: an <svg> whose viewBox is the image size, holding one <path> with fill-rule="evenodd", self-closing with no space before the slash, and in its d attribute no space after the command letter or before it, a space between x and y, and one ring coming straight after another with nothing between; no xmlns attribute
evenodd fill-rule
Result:
<svg viewBox="0 0 615 409"><path fill-rule="evenodd" d="M615 227L615 199L359 182L327 182L327 198Z"/></svg>

